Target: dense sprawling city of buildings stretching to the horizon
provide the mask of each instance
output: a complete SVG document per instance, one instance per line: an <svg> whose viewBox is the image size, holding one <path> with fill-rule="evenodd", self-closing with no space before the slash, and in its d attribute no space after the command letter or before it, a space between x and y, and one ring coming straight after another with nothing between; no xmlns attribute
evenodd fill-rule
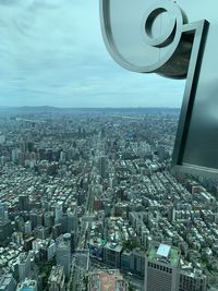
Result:
<svg viewBox="0 0 218 291"><path fill-rule="evenodd" d="M218 290L218 180L179 109L0 108L0 291Z"/></svg>

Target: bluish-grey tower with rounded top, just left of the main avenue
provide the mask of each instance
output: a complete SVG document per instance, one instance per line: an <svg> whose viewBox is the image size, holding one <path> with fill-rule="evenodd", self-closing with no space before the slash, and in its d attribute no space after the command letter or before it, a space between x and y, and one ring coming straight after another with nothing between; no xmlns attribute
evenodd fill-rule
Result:
<svg viewBox="0 0 218 291"><path fill-rule="evenodd" d="M58 244L56 250L57 264L63 266L65 276L71 271L71 243L62 241Z"/></svg>

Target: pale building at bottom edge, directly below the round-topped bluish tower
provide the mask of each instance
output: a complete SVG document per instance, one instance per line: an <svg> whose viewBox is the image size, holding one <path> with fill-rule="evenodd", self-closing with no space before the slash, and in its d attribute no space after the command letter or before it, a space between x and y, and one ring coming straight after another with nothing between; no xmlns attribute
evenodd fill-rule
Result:
<svg viewBox="0 0 218 291"><path fill-rule="evenodd" d="M63 291L64 290L65 275L63 266L53 266L48 279L49 291Z"/></svg>

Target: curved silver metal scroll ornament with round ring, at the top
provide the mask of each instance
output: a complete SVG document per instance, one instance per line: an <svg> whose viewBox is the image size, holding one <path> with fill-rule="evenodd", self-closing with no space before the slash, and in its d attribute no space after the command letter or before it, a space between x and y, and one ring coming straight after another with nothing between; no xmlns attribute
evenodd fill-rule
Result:
<svg viewBox="0 0 218 291"><path fill-rule="evenodd" d="M100 13L106 47L128 70L158 72L182 44L185 17L172 1L100 0Z"/></svg>

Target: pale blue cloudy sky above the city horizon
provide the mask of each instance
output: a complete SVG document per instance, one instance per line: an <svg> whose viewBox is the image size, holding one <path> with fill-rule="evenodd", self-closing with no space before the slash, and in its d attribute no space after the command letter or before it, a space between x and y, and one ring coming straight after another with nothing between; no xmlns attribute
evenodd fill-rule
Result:
<svg viewBox="0 0 218 291"><path fill-rule="evenodd" d="M0 106L181 107L183 92L111 59L98 0L0 0Z"/></svg>

